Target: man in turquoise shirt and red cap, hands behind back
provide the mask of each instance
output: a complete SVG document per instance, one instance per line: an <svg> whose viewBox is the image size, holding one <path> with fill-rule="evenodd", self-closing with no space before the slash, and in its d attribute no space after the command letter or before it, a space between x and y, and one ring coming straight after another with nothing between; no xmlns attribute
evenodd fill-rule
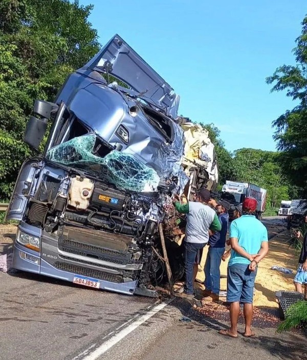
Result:
<svg viewBox="0 0 307 360"><path fill-rule="evenodd" d="M231 256L227 271L227 302L230 303L230 329L220 334L237 337L240 303L244 304L245 337L254 336L251 330L253 317L253 291L258 263L269 250L268 231L256 219L257 201L244 199L242 216L230 225Z"/></svg>

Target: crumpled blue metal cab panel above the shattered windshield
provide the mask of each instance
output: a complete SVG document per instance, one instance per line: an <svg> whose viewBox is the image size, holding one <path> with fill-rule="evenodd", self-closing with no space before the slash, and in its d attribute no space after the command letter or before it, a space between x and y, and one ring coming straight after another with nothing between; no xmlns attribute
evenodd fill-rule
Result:
<svg viewBox="0 0 307 360"><path fill-rule="evenodd" d="M164 179L178 176L183 189L188 177L180 166L184 150L181 127L173 122L173 142L167 143L165 137L152 127L142 111L136 116L129 114L129 107L136 105L133 99L104 85L93 83L89 78L82 80L82 83L75 83L75 80L75 76L69 78L58 99L64 101L82 123L110 145L121 144L122 153L134 156ZM76 85L81 87L77 91ZM69 96L68 88L75 91L74 96ZM116 133L120 125L129 132L128 144Z"/></svg>

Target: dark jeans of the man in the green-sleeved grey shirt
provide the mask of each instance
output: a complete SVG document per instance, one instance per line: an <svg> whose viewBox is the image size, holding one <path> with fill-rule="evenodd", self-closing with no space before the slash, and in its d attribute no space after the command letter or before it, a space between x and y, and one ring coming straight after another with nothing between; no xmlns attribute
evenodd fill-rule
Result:
<svg viewBox="0 0 307 360"><path fill-rule="evenodd" d="M185 267L185 277L186 282L184 286L184 291L189 294L194 294L194 284L193 284L193 272L194 264L199 264L201 257L201 250L206 244L202 243L184 243L184 267Z"/></svg>

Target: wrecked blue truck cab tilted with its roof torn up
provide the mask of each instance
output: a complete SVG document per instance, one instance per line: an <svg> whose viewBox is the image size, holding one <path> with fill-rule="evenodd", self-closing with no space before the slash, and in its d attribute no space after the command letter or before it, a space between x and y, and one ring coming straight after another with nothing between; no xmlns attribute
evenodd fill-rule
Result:
<svg viewBox="0 0 307 360"><path fill-rule="evenodd" d="M54 103L36 101L25 142L38 149L52 126L43 153L21 167L7 211L19 221L13 268L156 296L158 225L173 221L173 194L191 194L178 106L118 35Z"/></svg>

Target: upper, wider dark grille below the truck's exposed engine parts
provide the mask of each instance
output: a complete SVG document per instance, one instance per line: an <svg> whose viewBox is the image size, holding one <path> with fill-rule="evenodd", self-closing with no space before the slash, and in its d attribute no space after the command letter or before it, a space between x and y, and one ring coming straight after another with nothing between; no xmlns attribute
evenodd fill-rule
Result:
<svg viewBox="0 0 307 360"><path fill-rule="evenodd" d="M70 254L92 257L102 261L126 265L130 260L129 254L99 246L75 242L67 238L59 238L58 248Z"/></svg>

